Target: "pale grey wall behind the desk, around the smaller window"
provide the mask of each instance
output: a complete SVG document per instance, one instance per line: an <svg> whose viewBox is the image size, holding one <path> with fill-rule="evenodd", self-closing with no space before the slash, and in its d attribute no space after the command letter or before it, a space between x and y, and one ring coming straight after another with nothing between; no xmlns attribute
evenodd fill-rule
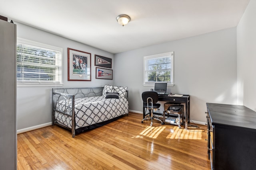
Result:
<svg viewBox="0 0 256 170"><path fill-rule="evenodd" d="M237 103L234 27L116 54L114 84L128 86L130 110L142 113L141 94L154 88L143 86L143 57L170 51L175 85L168 92L190 95L191 120L206 121L206 102Z"/></svg>

